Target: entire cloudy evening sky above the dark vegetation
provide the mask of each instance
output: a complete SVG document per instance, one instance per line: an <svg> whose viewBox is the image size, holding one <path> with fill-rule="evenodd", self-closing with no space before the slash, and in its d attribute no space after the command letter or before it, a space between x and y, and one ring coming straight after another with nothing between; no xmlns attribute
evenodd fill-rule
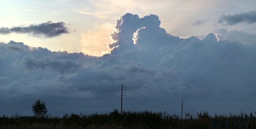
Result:
<svg viewBox="0 0 256 129"><path fill-rule="evenodd" d="M254 5L0 0L0 115L254 113Z"/></svg>

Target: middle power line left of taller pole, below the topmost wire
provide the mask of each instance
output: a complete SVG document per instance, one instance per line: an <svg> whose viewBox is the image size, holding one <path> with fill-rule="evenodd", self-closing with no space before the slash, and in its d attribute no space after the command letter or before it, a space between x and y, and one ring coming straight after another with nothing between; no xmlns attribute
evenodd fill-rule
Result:
<svg viewBox="0 0 256 129"><path fill-rule="evenodd" d="M66 87L66 88L82 89L82 90L119 90L119 89L90 89L90 88L69 87L69 86L54 85L54 84L49 84L49 83L40 83L40 82L37 82L37 81L30 81L30 80L20 79L20 78L17 78L17 77L11 77L11 76L2 75L2 74L0 74L0 75L1 75L1 76L4 76L4 77L13 78L13 79L18 79L18 80L23 80L23 81L29 81L29 82L39 83L39 84L45 84L45 85L52 85L52 86L57 86L57 87Z"/></svg>

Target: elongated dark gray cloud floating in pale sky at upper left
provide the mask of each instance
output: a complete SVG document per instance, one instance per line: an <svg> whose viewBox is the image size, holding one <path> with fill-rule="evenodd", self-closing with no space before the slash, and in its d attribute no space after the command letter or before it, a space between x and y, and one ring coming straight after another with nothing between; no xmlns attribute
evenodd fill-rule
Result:
<svg viewBox="0 0 256 129"><path fill-rule="evenodd" d="M65 26L64 22L52 23L51 21L41 23L41 24L31 24L27 27L17 26L13 28L0 28L0 34L9 33L24 33L31 34L36 37L56 37L63 33L69 33L68 28Z"/></svg>

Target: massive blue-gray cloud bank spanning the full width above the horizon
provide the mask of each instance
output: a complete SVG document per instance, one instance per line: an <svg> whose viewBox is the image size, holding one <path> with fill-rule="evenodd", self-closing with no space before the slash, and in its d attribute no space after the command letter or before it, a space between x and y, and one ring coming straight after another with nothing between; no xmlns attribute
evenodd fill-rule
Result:
<svg viewBox="0 0 256 129"><path fill-rule="evenodd" d="M157 15L121 16L116 30L110 34L113 41L108 44L110 54L103 57L29 48L13 41L0 43L0 70L4 75L0 76L0 89L63 98L104 98L93 101L44 98L49 112L59 116L120 109L117 96L121 94L121 84L128 96L123 100L124 110L166 110L180 114L184 98L189 105L187 112L204 109L214 115L254 111L255 35L243 33L246 43L222 40L242 32L221 29L202 40L184 39L166 33L160 23ZM222 39L218 41L216 36ZM31 104L37 97L8 94L4 90L0 90L4 92L0 94L4 105L0 111L7 115L33 114Z"/></svg>

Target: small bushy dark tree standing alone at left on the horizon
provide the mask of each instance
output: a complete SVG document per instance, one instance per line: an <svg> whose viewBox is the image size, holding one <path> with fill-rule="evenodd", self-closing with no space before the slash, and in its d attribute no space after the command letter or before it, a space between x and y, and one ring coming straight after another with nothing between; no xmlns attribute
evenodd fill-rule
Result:
<svg viewBox="0 0 256 129"><path fill-rule="evenodd" d="M48 109L46 108L45 101L41 101L39 98L36 100L36 102L32 105L32 111L34 112L34 115L37 117L43 117L48 112Z"/></svg>

